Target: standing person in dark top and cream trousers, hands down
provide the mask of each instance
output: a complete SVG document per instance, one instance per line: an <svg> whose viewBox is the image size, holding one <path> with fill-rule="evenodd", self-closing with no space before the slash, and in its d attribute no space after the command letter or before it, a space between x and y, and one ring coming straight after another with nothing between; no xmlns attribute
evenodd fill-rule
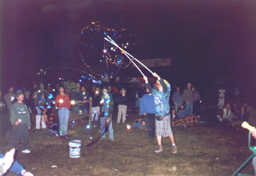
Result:
<svg viewBox="0 0 256 176"><path fill-rule="evenodd" d="M118 103L117 124L120 123L121 117L123 117L121 122L125 123L128 101L129 99L126 94L126 90L122 88L120 91L120 95L117 98L117 103Z"/></svg>

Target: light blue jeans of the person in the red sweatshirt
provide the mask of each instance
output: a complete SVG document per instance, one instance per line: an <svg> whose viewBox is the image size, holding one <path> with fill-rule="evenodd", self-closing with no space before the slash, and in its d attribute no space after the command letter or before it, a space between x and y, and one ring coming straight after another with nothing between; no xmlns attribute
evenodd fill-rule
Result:
<svg viewBox="0 0 256 176"><path fill-rule="evenodd" d="M58 111L59 124L60 124L60 135L68 135L68 118L69 110L66 107L61 107Z"/></svg>

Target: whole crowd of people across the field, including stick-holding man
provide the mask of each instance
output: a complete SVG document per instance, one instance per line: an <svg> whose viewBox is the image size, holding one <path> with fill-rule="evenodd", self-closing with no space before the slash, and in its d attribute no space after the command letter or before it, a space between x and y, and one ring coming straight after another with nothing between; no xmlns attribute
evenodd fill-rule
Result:
<svg viewBox="0 0 256 176"><path fill-rule="evenodd" d="M187 84L187 88L180 90L175 88L172 96L174 108L170 107L170 84L159 77L157 73L152 73L157 78L154 88L148 82L148 77L144 77L144 83L136 91L139 103L140 120L132 126L148 130L149 140L154 140L156 136L157 148L154 153L161 153L162 137L168 137L172 144L172 153L177 153L172 126L193 125L200 123L201 104L200 94L195 86ZM11 133L12 126L12 148L19 149L19 141L22 138L22 153L30 153L29 130L32 128L30 114L35 114L35 133L38 130L45 130L51 120L50 114L58 114L58 135L61 138L68 138L69 113L89 113L89 101L92 100L92 117L100 121L101 138L104 140L105 133L109 132L109 138L114 141L113 119L117 118L117 124L126 122L126 112L129 96L125 88L118 88L107 85L104 88L94 86L92 91L88 91L86 86L80 83L71 93L65 93L66 87L58 86L58 93L50 85L40 83L33 86L33 90L17 90L10 87L8 93L2 98L0 91L0 114L2 135L6 138ZM225 104L224 87L219 90L218 108L220 114L218 119L232 124L236 121L249 121L255 124L255 109L244 103L238 106L237 103L228 101ZM53 123L51 123L53 124Z"/></svg>

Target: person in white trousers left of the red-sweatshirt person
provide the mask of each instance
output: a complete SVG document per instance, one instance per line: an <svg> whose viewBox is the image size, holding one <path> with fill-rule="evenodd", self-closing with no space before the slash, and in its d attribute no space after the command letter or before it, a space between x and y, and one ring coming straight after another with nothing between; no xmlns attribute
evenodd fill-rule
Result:
<svg viewBox="0 0 256 176"><path fill-rule="evenodd" d="M50 111L49 106L51 103L48 96L49 93L45 90L45 86L43 85L43 83L40 83L39 90L35 91L32 96L35 102L35 109L37 112L37 114L35 115L35 130L40 129L41 120L42 128L46 129L46 112Z"/></svg>

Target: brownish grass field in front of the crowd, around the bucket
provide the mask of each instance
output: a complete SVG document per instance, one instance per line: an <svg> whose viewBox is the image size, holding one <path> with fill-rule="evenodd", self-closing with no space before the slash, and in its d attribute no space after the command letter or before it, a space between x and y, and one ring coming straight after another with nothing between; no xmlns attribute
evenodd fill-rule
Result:
<svg viewBox="0 0 256 176"><path fill-rule="evenodd" d="M115 141L108 139L107 132L105 140L86 146L90 136L99 135L99 123L87 129L87 120L77 120L73 128L69 127L75 132L70 140L82 140L79 158L69 157L69 140L49 131L31 130L32 152L19 151L17 160L35 175L232 175L251 154L247 130L220 124L214 111L203 113L205 124L173 127L177 154L172 154L168 138L163 139L164 151L154 154L157 143L148 140L147 131L126 129L126 124L139 118L138 109L128 109L125 124L116 124L113 119ZM11 139L5 140L3 150L10 147ZM254 174L251 162L242 173Z"/></svg>

